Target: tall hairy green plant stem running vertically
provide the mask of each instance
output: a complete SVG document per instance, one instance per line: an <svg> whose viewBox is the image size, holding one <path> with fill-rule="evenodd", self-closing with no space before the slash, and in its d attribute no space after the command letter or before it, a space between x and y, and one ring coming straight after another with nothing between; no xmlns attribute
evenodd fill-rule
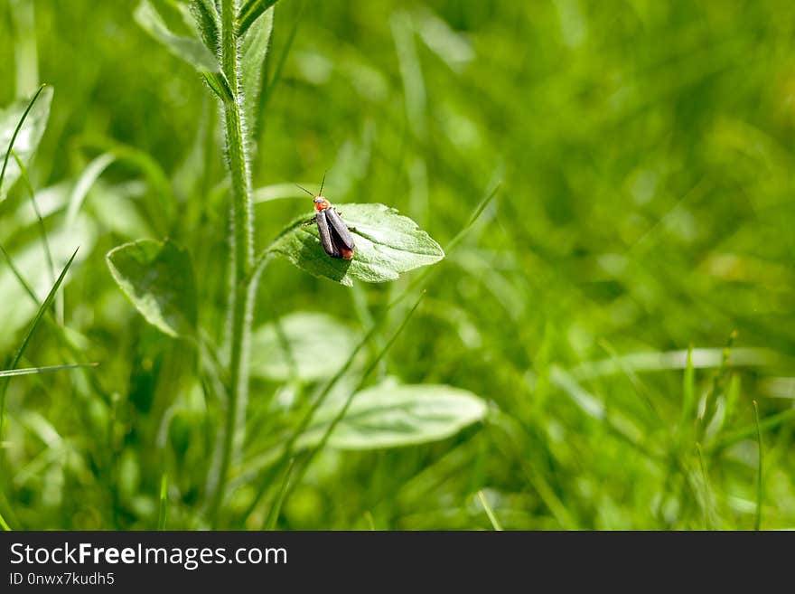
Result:
<svg viewBox="0 0 795 594"><path fill-rule="evenodd" d="M229 401L222 442L218 484L210 504L210 523L215 527L220 505L226 495L229 466L243 441L248 401L248 352L251 314L257 292L257 275L249 278L254 264L254 227L248 147L243 120L243 97L239 84L238 0L221 5L221 66L229 81L233 100L223 106L226 151L231 179L232 228L229 235L231 274L229 286Z"/></svg>

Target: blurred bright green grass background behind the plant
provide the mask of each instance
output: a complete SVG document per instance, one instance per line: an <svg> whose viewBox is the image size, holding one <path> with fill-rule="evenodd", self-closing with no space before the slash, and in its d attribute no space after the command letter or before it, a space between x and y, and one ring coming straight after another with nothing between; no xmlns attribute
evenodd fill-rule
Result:
<svg viewBox="0 0 795 594"><path fill-rule="evenodd" d="M14 528L151 529L165 470L167 526L202 527L220 411L190 349L145 324L104 256L162 239L138 208L160 204L220 338L229 222L215 103L136 25L136 3L28 4L0 5L0 104L39 82L55 90L37 198L109 146L150 173L111 165L75 227L45 216L56 268L80 245L63 311L81 350L42 325L23 366L100 366L11 382L0 513ZM276 5L255 187L315 188L328 170L332 202L394 206L444 245L501 182L379 367L472 391L487 420L434 444L324 451L277 527L489 529L482 490L506 529L751 529L753 401L761 525L795 527L793 56L783 0ZM305 199L258 205L258 245ZM18 184L0 241L43 297L51 278L26 209ZM361 334L412 278L349 289L276 262L255 325L322 311ZM7 361L34 307L5 261L0 288ZM657 355L689 346L711 349L695 352L692 377L683 354ZM295 393L252 382L257 438L225 525L264 522L267 497L241 515L257 488L246 472Z"/></svg>

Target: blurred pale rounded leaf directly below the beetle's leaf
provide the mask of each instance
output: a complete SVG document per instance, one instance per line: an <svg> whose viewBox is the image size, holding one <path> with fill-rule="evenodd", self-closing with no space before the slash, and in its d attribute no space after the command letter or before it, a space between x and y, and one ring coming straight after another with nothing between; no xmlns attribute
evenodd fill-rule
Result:
<svg viewBox="0 0 795 594"><path fill-rule="evenodd" d="M279 382L331 377L356 348L358 336L336 318L295 312L252 336L251 374Z"/></svg>

